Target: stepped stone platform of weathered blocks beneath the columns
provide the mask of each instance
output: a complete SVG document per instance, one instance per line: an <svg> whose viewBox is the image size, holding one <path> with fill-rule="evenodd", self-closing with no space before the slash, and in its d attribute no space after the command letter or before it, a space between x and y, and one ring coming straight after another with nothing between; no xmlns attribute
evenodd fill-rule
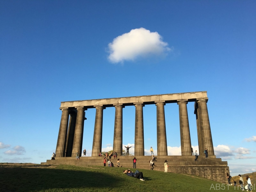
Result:
<svg viewBox="0 0 256 192"><path fill-rule="evenodd" d="M109 158L109 157L108 157ZM122 167L133 168L132 159L134 156L118 156L120 159L120 171L123 171ZM76 160L76 157L55 157L55 160L47 160L41 164L45 165L102 165L104 157L80 157ZM151 156L136 156L136 169L151 169L149 166L149 160ZM204 156L199 156L198 161L194 161L195 156L156 156L155 169L157 171L164 172L164 161L168 161L168 172L184 173L189 175L195 175L204 177L209 180L219 181L227 183L226 172L229 173L229 167L227 161L221 161L221 158L216 156L209 156L205 159ZM111 162L116 166L117 159L111 157ZM106 164L108 166L108 164Z"/></svg>

